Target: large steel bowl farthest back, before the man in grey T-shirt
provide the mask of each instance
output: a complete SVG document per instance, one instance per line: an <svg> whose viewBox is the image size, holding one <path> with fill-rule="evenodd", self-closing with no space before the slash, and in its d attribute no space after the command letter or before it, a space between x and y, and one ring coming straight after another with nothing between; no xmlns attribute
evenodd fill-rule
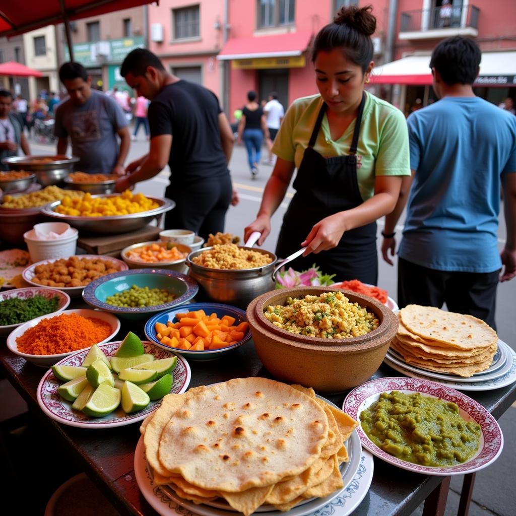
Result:
<svg viewBox="0 0 516 516"><path fill-rule="evenodd" d="M41 160L49 159L48 162L40 163ZM2 163L9 167L9 170L25 170L36 173L36 181L43 186L57 185L66 176L73 172L73 164L79 158L65 155L30 155L14 156L2 159Z"/></svg>

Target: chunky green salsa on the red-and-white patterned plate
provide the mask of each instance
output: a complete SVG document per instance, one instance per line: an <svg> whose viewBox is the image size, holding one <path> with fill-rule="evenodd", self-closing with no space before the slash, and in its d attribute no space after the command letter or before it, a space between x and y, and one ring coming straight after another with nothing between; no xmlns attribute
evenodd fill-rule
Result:
<svg viewBox="0 0 516 516"><path fill-rule="evenodd" d="M362 411L360 422L383 451L424 466L460 464L480 445L480 425L464 421L455 403L420 393L384 392Z"/></svg>

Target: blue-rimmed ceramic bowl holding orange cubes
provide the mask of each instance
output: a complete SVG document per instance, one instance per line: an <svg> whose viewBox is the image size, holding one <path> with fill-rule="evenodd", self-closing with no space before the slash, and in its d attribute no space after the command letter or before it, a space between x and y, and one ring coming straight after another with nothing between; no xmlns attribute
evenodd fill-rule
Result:
<svg viewBox="0 0 516 516"><path fill-rule="evenodd" d="M188 312L204 310L206 314L213 314L215 312L217 314L217 317L219 318L224 315L230 315L231 317L234 317L236 319L235 325L240 324L240 322L247 321L246 313L244 312L244 310L231 307L229 304L190 303L185 307L167 310L166 312L162 312L156 314L154 317L151 317L145 325L145 334L147 335L147 338L150 341L155 342L158 346L162 347L163 349L167 349L168 351L173 351L174 353L181 354L187 357L188 360L194 361L216 360L218 358L221 358L221 356L224 353L227 353L228 351L232 351L233 349L240 347L241 345L249 341L251 338L251 330L250 328L248 328L246 334L244 335L244 338L240 342L233 344L233 346L228 346L220 349L206 349L204 351L188 351L186 349L176 349L167 346L166 344L160 343L158 341L158 338L156 337L156 322L162 322L163 324L167 324L168 321L177 322L175 314L184 313L185 310Z"/></svg>

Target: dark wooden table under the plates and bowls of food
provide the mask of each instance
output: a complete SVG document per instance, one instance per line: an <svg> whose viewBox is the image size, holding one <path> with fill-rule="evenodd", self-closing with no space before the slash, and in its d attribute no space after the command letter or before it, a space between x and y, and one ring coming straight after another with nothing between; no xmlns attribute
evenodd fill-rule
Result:
<svg viewBox="0 0 516 516"><path fill-rule="evenodd" d="M127 324L123 321L118 339L123 338L128 330L141 335L142 322ZM192 371L191 387L234 377L270 376L257 357L252 341L230 353L228 358L189 364ZM0 347L0 366L31 411L39 417L41 424L62 441L63 450L69 451L77 465L122 514L156 514L141 495L134 475L134 450L140 437L139 424L99 430L60 425L46 417L37 404L36 389L45 369L10 353L5 345ZM384 376L400 375L382 365L373 378ZM467 394L499 418L516 400L516 383L494 391ZM342 407L345 394L327 397ZM375 458L373 482L353 514L409 515L425 500L425 514L442 514L449 478L410 473ZM467 478L471 480L473 475L466 475ZM466 494L471 496L471 490Z"/></svg>

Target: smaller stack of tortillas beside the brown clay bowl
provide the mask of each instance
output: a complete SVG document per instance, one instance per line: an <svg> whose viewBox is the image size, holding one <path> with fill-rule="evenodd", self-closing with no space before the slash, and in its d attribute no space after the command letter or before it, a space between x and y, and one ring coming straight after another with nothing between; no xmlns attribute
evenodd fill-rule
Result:
<svg viewBox="0 0 516 516"><path fill-rule="evenodd" d="M409 304L398 312L399 329L391 348L408 364L470 377L493 362L498 336L472 315Z"/></svg>

